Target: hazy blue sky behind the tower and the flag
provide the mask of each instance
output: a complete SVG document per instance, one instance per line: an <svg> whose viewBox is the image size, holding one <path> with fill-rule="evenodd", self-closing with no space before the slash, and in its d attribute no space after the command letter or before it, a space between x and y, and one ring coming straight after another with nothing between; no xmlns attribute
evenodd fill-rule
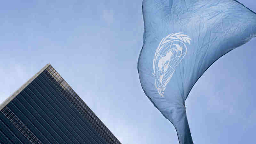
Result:
<svg viewBox="0 0 256 144"><path fill-rule="evenodd" d="M240 0L256 11L254 0ZM3 1L2 103L47 63L124 144L178 144L172 124L148 100L137 60L142 1ZM217 60L186 100L196 144L252 143L256 128L255 44Z"/></svg>

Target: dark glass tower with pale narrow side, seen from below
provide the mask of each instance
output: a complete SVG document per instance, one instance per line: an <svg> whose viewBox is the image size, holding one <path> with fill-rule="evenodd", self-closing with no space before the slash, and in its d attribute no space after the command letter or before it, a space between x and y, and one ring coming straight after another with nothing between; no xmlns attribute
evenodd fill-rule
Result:
<svg viewBox="0 0 256 144"><path fill-rule="evenodd" d="M0 105L0 143L120 144L47 64Z"/></svg>

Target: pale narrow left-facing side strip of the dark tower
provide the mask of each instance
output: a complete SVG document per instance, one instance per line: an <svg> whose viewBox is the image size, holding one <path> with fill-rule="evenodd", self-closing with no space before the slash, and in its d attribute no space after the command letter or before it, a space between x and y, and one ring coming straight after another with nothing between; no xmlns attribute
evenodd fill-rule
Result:
<svg viewBox="0 0 256 144"><path fill-rule="evenodd" d="M11 102L25 87L28 86L37 76L39 76L48 66L50 66L50 63L46 64L39 72L37 72L34 76L32 76L25 84L23 84L18 90L13 92L11 96L9 96L7 99L4 100L0 104L0 111L9 103Z"/></svg>

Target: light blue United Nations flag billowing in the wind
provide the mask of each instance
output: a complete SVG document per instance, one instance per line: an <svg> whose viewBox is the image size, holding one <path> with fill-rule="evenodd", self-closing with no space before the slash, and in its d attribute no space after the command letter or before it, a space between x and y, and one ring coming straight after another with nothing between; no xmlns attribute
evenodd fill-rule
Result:
<svg viewBox="0 0 256 144"><path fill-rule="evenodd" d="M235 0L143 0L141 86L192 144L185 100L214 61L256 36L256 15Z"/></svg>

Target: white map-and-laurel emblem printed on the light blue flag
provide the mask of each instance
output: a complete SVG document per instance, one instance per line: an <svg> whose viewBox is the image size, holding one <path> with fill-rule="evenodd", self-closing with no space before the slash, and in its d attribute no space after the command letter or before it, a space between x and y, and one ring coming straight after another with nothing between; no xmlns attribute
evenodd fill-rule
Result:
<svg viewBox="0 0 256 144"><path fill-rule="evenodd" d="M183 33L170 34L159 43L153 60L155 86L160 96L164 97L166 85L171 80L177 65L187 53L186 43L190 38Z"/></svg>

